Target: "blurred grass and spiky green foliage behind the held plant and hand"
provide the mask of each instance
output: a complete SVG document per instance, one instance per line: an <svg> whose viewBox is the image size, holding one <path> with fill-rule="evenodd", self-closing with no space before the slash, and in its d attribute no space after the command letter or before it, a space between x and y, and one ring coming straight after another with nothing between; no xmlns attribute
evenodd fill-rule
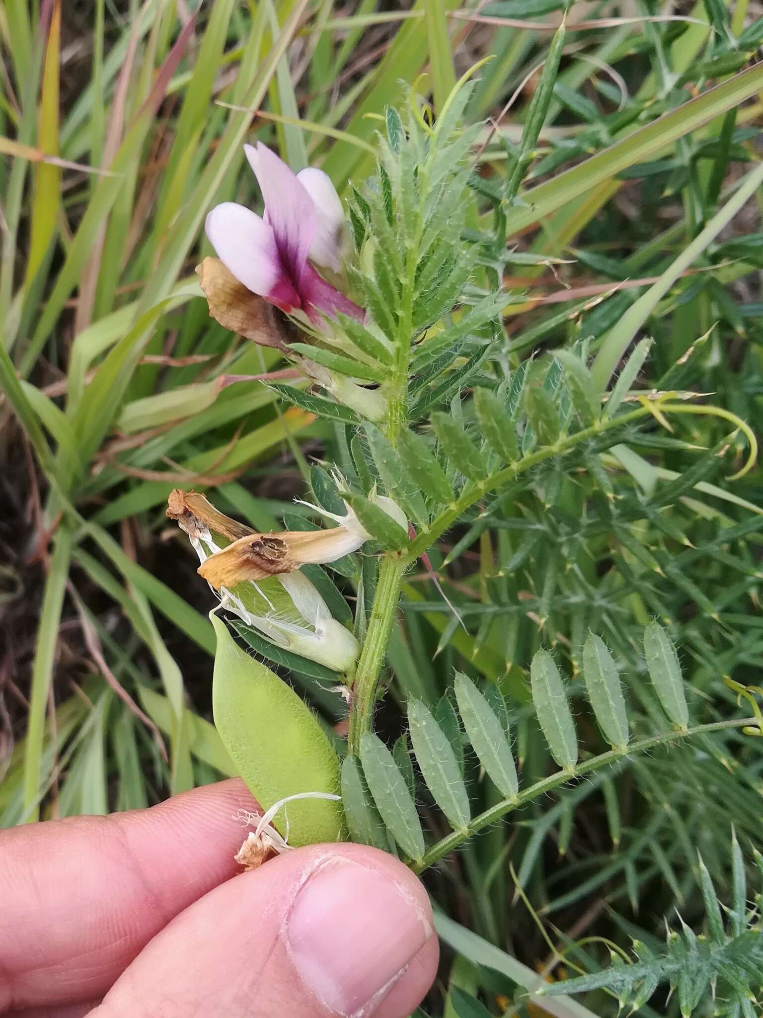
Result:
<svg viewBox="0 0 763 1018"><path fill-rule="evenodd" d="M483 228L480 194L489 199L506 173L559 23L544 11L553 4L526 4L535 21L521 6L6 0L3 825L144 806L231 773L208 720L209 593L164 504L174 487L213 490L224 511L279 526L301 511L292 499L311 458L341 460L343 436L280 403L263 381L230 383L267 382L284 364L209 318L193 274L210 252L203 217L224 200L256 205L244 140L272 145L295 169L322 166L347 194L372 169L378 117L402 101L404 82L436 110L458 76L491 56L469 108L471 120L498 124L485 127L476 169L474 227ZM523 184L531 193L507 224L519 254L507 259L505 285L524 299L506 321L506 357L600 337L650 293L645 388L712 392L754 422L760 192L691 269L665 272L760 158L760 9L718 0L670 10L691 20L644 21L663 13L648 2L569 12ZM660 292L648 289L660 279ZM737 710L720 679L759 682L763 651L761 474L729 485L721 463L692 472L695 450L727 430L700 417L650 437L643 456L610 458L572 515L528 498L449 534L435 564L466 629L425 574L410 578L383 727L397 731L396 700L435 701L454 667L467 668L515 697L519 755L540 774L547 759L520 705L533 652L559 645L574 665L593 625L638 665L633 634L653 615L682 648L697 712ZM332 698L293 679L339 720ZM648 715L639 682L632 693ZM587 737L594 746L592 726ZM653 940L666 895L689 921L700 914L694 846L722 891L731 824L748 841L759 835L760 762L743 741L708 739L560 793L480 836L431 888L452 916L532 967L547 948L513 900L507 858L565 936ZM595 954L581 952L595 967ZM444 969L446 982L480 984L467 954ZM505 989L487 983L491 1008ZM431 1006L456 1013L442 987Z"/></svg>

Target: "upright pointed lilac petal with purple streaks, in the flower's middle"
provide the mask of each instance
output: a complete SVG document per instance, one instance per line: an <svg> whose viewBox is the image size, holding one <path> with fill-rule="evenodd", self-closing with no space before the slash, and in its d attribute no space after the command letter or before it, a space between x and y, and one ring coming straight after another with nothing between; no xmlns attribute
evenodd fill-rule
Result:
<svg viewBox="0 0 763 1018"><path fill-rule="evenodd" d="M281 263L298 286L315 234L315 206L296 174L268 146L245 145L244 152L262 192Z"/></svg>

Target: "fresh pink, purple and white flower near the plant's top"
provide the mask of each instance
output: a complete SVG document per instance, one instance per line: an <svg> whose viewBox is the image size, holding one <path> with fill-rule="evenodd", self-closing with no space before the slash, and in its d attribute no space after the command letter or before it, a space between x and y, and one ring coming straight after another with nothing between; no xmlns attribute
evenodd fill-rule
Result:
<svg viewBox="0 0 763 1018"><path fill-rule="evenodd" d="M207 236L229 272L252 293L288 315L363 318L358 307L320 276L314 266L338 272L346 223L334 184L321 170L293 173L258 142L244 152L265 200L265 215L235 202L216 206L207 217Z"/></svg>

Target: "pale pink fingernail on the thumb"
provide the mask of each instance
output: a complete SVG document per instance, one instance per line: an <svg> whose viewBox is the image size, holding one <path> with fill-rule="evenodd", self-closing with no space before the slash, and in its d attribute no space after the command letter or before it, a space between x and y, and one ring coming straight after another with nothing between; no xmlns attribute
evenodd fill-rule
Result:
<svg viewBox="0 0 763 1018"><path fill-rule="evenodd" d="M334 858L302 885L287 921L294 965L339 1015L372 1014L432 934L389 875Z"/></svg>

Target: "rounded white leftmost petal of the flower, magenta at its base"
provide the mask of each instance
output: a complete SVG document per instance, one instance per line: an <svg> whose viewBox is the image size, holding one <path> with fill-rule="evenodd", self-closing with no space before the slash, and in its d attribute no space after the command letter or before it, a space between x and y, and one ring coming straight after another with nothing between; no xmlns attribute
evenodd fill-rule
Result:
<svg viewBox="0 0 763 1018"><path fill-rule="evenodd" d="M208 215L204 230L220 261L247 290L284 310L299 307L299 294L284 277L273 230L256 213L224 202ZM274 290L279 299L271 296Z"/></svg>

